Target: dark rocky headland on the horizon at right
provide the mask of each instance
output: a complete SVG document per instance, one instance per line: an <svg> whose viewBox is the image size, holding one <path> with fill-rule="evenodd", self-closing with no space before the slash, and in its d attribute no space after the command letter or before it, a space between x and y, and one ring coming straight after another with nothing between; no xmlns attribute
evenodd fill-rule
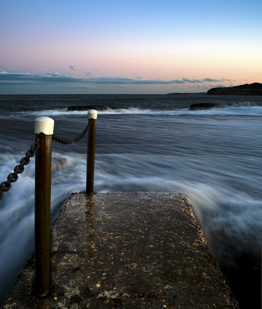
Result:
<svg viewBox="0 0 262 309"><path fill-rule="evenodd" d="M208 95L262 95L262 84L252 83L234 87L212 88Z"/></svg>

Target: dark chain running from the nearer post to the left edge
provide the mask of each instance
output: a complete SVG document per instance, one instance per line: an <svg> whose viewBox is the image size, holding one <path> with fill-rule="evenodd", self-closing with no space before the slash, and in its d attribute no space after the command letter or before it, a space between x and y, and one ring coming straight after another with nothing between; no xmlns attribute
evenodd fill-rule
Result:
<svg viewBox="0 0 262 309"><path fill-rule="evenodd" d="M0 201L3 198L3 192L8 191L11 188L11 182L18 180L18 174L23 173L25 170L24 166L29 164L30 158L35 155L35 150L40 147L40 138L41 134L36 138L35 143L31 145L31 149L27 151L26 156L21 159L20 164L14 168L14 172L7 176L7 181L4 181L0 184Z"/></svg>

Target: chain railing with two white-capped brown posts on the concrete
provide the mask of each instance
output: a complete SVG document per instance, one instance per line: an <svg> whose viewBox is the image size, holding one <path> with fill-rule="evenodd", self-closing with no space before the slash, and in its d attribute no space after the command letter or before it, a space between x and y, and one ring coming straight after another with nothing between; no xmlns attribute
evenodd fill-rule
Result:
<svg viewBox="0 0 262 309"><path fill-rule="evenodd" d="M62 144L78 142L88 132L87 146L87 177L86 193L94 192L94 155L97 111L88 111L88 125L84 131L74 139L64 139L54 135L54 120L49 117L35 119L35 143L21 159L7 181L0 184L0 200L2 192L11 188L11 182L18 179L18 174L24 171L24 165L35 155L35 293L45 297L49 293L50 285L50 211L51 211L51 166L52 140ZM90 129L90 130L89 130ZM35 152L38 150L37 152Z"/></svg>

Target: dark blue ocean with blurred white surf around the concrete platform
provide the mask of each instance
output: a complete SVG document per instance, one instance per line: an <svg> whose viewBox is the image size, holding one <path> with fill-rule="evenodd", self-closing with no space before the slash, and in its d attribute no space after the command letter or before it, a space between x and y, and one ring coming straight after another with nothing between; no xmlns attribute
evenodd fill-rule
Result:
<svg viewBox="0 0 262 309"><path fill-rule="evenodd" d="M195 103L232 106L190 111ZM261 303L262 97L1 95L0 182L34 143L35 118L74 138L87 112L67 108L93 104L128 108L98 111L94 191L184 194L242 308ZM52 150L54 220L85 191L87 136ZM32 158L0 201L1 298L34 251L34 190Z"/></svg>

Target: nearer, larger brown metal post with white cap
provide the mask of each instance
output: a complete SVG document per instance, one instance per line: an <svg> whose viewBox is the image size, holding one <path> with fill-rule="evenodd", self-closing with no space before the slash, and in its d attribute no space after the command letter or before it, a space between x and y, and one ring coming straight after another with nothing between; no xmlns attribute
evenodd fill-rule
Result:
<svg viewBox="0 0 262 309"><path fill-rule="evenodd" d="M46 296L49 292L53 129L53 119L35 119L36 136L43 133L40 147L35 153L35 293L40 297Z"/></svg>

